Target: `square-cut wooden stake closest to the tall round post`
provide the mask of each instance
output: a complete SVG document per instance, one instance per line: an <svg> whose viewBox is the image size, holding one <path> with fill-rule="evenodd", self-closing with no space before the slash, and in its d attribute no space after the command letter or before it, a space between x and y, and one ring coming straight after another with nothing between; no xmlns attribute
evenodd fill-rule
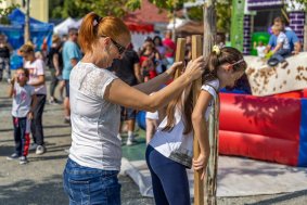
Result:
<svg viewBox="0 0 307 205"><path fill-rule="evenodd" d="M192 60L197 59L202 55L202 36L195 35L192 36ZM196 79L193 82L193 105L195 106L197 98L201 92L202 87L202 78ZM194 143L193 143L193 155L194 158L197 158L200 155L200 145L197 139L194 137ZM194 205L203 205L204 204L204 183L201 180L202 170L196 171L194 170Z"/></svg>

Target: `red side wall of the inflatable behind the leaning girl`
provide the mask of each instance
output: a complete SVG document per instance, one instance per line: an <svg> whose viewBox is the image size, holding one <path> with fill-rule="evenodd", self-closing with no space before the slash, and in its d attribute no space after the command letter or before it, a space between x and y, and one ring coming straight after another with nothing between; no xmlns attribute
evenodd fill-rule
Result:
<svg viewBox="0 0 307 205"><path fill-rule="evenodd" d="M220 93L219 152L296 166L300 100Z"/></svg>

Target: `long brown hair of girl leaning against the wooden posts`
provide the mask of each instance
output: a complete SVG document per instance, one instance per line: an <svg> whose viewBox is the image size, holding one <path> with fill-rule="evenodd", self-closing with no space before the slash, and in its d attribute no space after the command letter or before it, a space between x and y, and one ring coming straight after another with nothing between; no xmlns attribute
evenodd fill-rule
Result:
<svg viewBox="0 0 307 205"><path fill-rule="evenodd" d="M202 76L202 84L217 79L218 67L225 63L235 63L243 59L242 53L231 47L225 47L220 49L220 53L212 52L205 62L205 72ZM246 68L245 62L242 65L234 66L233 72L244 71ZM187 91L187 90L186 90ZM186 93L184 93L186 94ZM188 134L192 131L192 112L193 112L193 90L190 89L188 98L182 101L182 94L169 102L166 108L167 124L163 128L163 131L171 131L175 126L175 112L176 108L180 108L180 114L183 116L184 130L183 134Z"/></svg>

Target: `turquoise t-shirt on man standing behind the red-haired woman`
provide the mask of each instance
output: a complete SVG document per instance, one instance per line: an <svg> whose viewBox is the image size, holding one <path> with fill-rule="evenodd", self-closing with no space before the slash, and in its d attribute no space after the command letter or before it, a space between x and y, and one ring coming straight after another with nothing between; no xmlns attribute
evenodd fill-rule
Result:
<svg viewBox="0 0 307 205"><path fill-rule="evenodd" d="M75 59L77 60L77 62L80 61L81 51L76 42L67 40L64 43L62 54L63 54L63 64L64 64L62 76L63 79L68 80L71 72L73 69L71 60Z"/></svg>

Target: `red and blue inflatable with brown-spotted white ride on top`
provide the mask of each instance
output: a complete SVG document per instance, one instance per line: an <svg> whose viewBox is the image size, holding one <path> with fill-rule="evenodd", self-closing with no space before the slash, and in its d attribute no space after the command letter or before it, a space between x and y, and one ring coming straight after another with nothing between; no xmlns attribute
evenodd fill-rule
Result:
<svg viewBox="0 0 307 205"><path fill-rule="evenodd" d="M281 68L246 56L247 85L219 94L220 154L307 167L306 60L300 53ZM145 113L137 120L144 129Z"/></svg>

